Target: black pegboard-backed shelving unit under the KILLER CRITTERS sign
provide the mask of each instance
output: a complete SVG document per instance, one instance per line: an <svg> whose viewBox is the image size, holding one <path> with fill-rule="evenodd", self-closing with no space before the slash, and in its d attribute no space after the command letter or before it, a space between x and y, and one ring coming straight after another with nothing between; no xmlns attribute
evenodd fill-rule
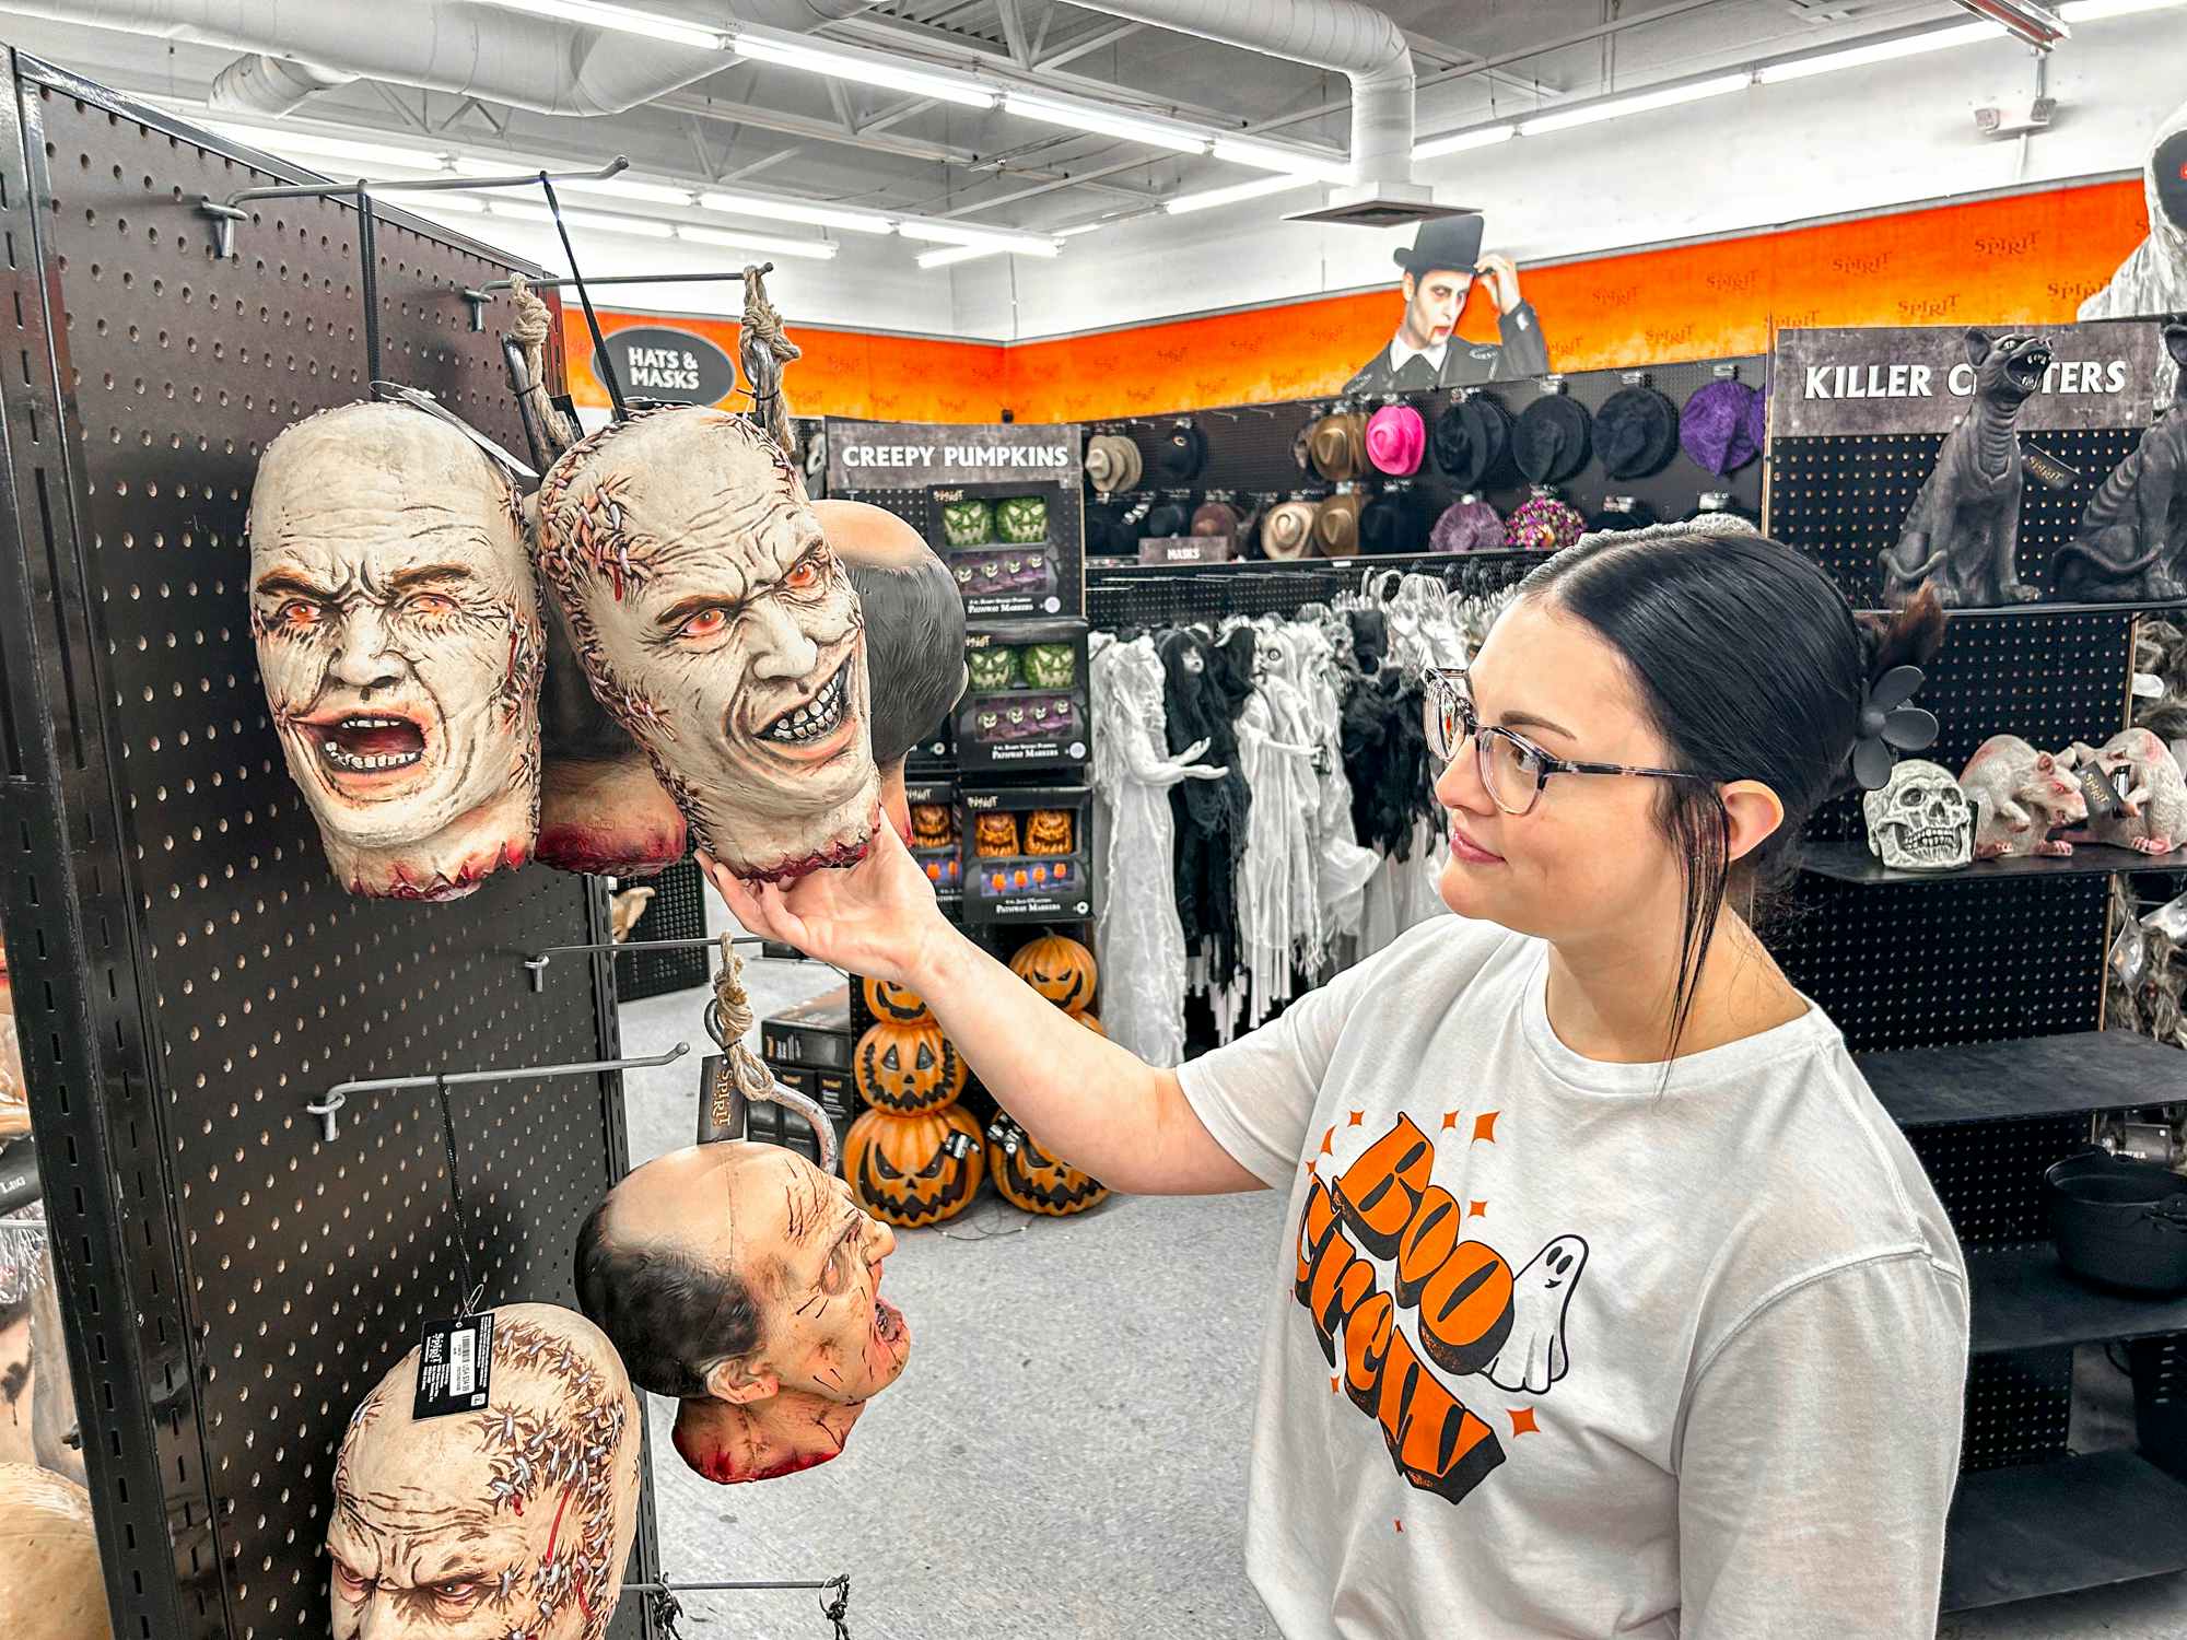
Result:
<svg viewBox="0 0 2187 1640"><path fill-rule="evenodd" d="M1857 604L1874 604L1876 551L1940 437L1774 437L1767 531L1817 558ZM2135 437L2084 429L2040 442L2097 483ZM2047 547L2071 536L2084 503L2080 483L2030 483L2023 575L2047 573ZM2071 604L1953 612L1918 702L1942 724L1925 757L1957 770L1997 733L2045 748L2102 743L2130 722L2141 619ZM1935 1183L1973 1275L1944 1609L2187 1570L2187 1301L2106 1295L2069 1277L2043 1200L2043 1172L2095 1141L2106 1120L2187 1100L2187 1056L2104 1030L2110 872L2145 877L2159 899L2183 888L2187 862L2075 846L2069 857L1885 870L1848 796L1811 820L1804 864L1778 960L1844 1030ZM2106 1362L2119 1343L2130 1371ZM2130 1417L2139 1445L2075 1454L2075 1404Z"/></svg>

